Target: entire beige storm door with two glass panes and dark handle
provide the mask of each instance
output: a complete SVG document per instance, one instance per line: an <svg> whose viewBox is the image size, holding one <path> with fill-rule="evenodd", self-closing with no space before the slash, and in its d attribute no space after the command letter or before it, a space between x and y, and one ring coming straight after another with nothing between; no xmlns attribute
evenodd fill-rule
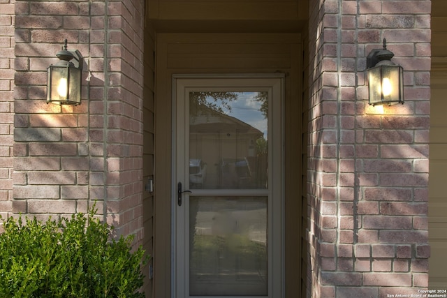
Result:
<svg viewBox="0 0 447 298"><path fill-rule="evenodd" d="M283 80L174 77L174 297L282 297Z"/></svg>

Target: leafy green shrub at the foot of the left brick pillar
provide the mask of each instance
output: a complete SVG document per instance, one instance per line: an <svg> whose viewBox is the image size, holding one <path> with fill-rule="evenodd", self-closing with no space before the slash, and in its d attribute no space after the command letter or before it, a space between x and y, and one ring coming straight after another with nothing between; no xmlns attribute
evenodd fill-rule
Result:
<svg viewBox="0 0 447 298"><path fill-rule="evenodd" d="M145 297L144 251L133 236L110 241L111 226L94 210L43 223L3 220L0 297Z"/></svg>

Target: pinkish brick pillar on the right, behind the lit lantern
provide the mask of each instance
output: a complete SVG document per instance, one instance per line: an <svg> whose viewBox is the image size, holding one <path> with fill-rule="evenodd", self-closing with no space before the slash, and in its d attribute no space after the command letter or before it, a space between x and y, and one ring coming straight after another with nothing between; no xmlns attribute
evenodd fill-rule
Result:
<svg viewBox="0 0 447 298"><path fill-rule="evenodd" d="M417 294L430 256L430 1L310 2L309 295ZM406 102L379 110L365 68L383 38Z"/></svg>

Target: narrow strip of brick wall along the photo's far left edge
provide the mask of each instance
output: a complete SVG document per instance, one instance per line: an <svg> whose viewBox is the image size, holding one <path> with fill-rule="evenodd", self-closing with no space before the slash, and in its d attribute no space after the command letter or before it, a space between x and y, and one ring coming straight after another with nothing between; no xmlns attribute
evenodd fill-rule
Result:
<svg viewBox="0 0 447 298"><path fill-rule="evenodd" d="M13 208L14 1L0 1L0 215Z"/></svg>

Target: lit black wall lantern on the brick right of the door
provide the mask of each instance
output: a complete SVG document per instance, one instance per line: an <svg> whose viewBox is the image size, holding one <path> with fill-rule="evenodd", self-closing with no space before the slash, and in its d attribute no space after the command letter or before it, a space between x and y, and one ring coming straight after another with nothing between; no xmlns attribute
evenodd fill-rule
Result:
<svg viewBox="0 0 447 298"><path fill-rule="evenodd" d="M369 105L395 105L404 103L404 68L391 61L393 52L372 50L367 57Z"/></svg>

